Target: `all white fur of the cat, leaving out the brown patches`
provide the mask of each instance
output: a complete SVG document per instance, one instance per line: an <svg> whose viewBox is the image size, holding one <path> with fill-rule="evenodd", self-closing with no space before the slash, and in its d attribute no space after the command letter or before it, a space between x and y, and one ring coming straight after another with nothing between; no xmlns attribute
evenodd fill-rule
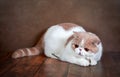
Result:
<svg viewBox="0 0 120 77"><path fill-rule="evenodd" d="M71 48L71 42L69 42L65 47L67 39L71 35L73 35L74 31L85 32L85 30L80 26L71 28L70 30L65 30L59 25L50 27L44 36L45 55L56 59L57 57L59 57L59 59L62 61L67 61L81 66L96 65L97 61L100 60L102 55L102 44L99 45L99 52L93 54L95 55L94 57L91 58L90 56L79 56L77 53L81 53L82 55L89 55L91 53L85 52L83 49L83 52L80 52L78 49L76 49L76 53L74 53L73 49ZM83 43L84 40L82 40L81 44ZM55 57L53 54L57 57ZM89 60L91 61L91 63L89 62Z"/></svg>

